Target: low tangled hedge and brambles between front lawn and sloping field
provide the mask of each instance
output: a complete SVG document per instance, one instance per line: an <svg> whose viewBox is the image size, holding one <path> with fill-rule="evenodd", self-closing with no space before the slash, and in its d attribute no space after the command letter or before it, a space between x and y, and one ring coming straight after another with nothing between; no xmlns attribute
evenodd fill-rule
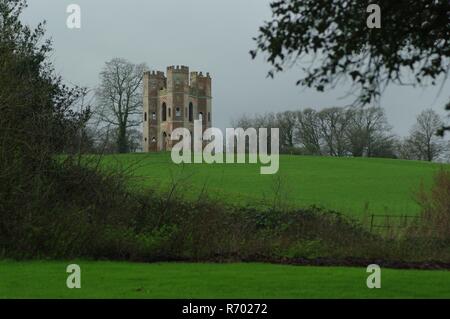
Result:
<svg viewBox="0 0 450 319"><path fill-rule="evenodd" d="M121 174L87 166L64 161L48 177L45 197L14 204L14 214L0 223L3 257L450 262L445 241L416 233L386 239L333 211L187 201L171 191L128 189Z"/></svg>

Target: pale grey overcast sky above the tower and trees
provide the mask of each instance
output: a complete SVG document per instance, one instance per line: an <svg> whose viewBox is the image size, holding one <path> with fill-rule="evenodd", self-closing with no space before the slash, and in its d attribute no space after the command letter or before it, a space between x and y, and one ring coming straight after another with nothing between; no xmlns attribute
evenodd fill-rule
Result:
<svg viewBox="0 0 450 319"><path fill-rule="evenodd" d="M68 29L66 8L81 6L81 29ZM352 98L345 87L318 93L295 86L299 70L267 79L270 66L251 60L252 37L270 18L269 0L29 0L24 19L47 21L52 59L66 81L95 87L105 61L123 57L165 71L187 65L210 72L213 125L225 128L240 114L344 106ZM441 114L450 97L450 81L438 88L392 86L383 94L394 132L406 135L425 108Z"/></svg>

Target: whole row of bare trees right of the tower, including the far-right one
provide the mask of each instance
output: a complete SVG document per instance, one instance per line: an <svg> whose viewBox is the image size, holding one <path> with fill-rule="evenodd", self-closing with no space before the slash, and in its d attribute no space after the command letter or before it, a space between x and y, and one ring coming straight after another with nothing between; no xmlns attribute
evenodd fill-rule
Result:
<svg viewBox="0 0 450 319"><path fill-rule="evenodd" d="M432 109L421 112L407 137L392 132L381 107L305 108L244 115L233 126L279 128L280 152L434 161L447 156L448 143L437 136L443 119Z"/></svg>

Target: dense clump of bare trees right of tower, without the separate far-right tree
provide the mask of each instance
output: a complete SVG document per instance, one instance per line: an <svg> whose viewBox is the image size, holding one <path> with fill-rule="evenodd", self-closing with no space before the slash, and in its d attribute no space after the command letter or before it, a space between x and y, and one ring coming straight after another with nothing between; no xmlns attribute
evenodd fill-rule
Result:
<svg viewBox="0 0 450 319"><path fill-rule="evenodd" d="M329 156L397 157L398 140L390 134L379 107L331 107L242 116L235 127L277 127L280 151Z"/></svg>

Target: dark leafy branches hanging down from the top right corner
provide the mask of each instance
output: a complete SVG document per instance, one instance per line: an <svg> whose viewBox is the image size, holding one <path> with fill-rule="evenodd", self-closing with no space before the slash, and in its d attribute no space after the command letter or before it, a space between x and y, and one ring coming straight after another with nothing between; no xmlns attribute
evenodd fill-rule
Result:
<svg viewBox="0 0 450 319"><path fill-rule="evenodd" d="M381 8L380 29L366 25L369 4ZM271 8L251 52L267 54L274 67L269 75L312 61L298 84L323 91L350 79L366 104L391 82L411 82L408 72L419 85L448 73L448 0L274 0Z"/></svg>

